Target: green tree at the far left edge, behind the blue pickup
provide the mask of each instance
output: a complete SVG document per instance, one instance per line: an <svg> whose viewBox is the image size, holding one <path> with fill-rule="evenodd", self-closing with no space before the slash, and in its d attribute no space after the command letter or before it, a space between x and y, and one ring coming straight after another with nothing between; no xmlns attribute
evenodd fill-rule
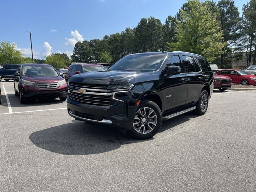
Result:
<svg viewBox="0 0 256 192"><path fill-rule="evenodd" d="M16 50L16 44L0 42L0 65L5 63L22 64L24 53Z"/></svg>

